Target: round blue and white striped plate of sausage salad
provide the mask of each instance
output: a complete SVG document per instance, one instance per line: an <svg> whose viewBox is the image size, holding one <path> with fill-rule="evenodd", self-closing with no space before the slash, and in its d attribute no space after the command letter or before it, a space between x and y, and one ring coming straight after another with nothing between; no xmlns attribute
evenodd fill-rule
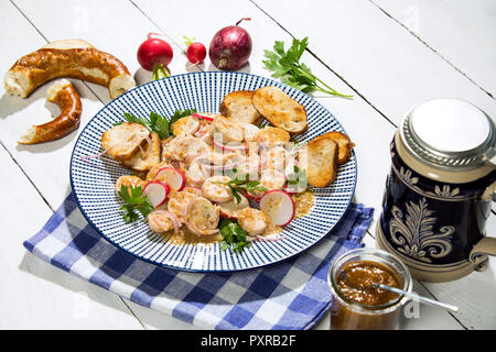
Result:
<svg viewBox="0 0 496 352"><path fill-rule="evenodd" d="M296 111L291 124L284 109ZM280 81L175 75L127 91L87 123L71 185L88 222L143 261L191 272L256 268L306 251L347 210L356 157L348 150L341 161L333 134L346 136L336 118ZM335 156L315 173L305 161L322 151Z"/></svg>

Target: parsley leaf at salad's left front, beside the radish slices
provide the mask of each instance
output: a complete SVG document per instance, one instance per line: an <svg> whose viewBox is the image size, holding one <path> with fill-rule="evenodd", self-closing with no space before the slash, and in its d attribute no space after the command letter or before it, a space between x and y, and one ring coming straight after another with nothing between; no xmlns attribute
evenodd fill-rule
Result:
<svg viewBox="0 0 496 352"><path fill-rule="evenodd" d="M147 218L150 212L153 211L152 204L143 196L140 186L120 186L118 191L119 197L125 201L125 204L119 208L123 210L122 219L125 222L132 222L140 218L140 212L143 218Z"/></svg>

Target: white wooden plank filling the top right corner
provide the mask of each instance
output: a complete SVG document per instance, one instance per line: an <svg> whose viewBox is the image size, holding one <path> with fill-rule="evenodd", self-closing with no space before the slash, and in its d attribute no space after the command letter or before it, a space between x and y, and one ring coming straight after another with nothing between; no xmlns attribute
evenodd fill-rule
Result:
<svg viewBox="0 0 496 352"><path fill-rule="evenodd" d="M481 89L496 94L496 3L373 0Z"/></svg>

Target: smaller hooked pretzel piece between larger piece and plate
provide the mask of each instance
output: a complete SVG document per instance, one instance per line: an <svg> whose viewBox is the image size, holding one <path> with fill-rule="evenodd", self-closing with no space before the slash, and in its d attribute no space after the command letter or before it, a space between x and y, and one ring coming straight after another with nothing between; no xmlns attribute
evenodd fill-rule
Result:
<svg viewBox="0 0 496 352"><path fill-rule="evenodd" d="M76 89L67 79L56 80L47 92L47 100L61 109L61 114L44 124L33 125L19 140L20 144L36 144L57 140L79 127L82 103Z"/></svg>

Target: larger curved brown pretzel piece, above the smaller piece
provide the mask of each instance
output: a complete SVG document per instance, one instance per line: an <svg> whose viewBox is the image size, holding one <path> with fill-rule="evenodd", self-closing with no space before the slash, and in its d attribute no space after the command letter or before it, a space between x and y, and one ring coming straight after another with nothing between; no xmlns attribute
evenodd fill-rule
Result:
<svg viewBox="0 0 496 352"><path fill-rule="evenodd" d="M82 40L64 40L18 59L6 74L6 91L26 98L44 82L60 77L105 86L112 99L136 86L127 67L115 56Z"/></svg>

